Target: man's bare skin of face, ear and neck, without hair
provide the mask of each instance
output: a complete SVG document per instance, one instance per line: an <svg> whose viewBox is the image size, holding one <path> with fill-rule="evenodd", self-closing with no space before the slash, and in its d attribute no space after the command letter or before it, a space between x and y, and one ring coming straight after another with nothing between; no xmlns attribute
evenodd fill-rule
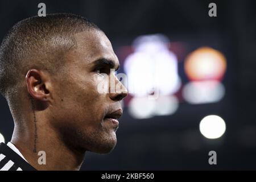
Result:
<svg viewBox="0 0 256 182"><path fill-rule="evenodd" d="M105 117L121 117L120 101L127 90L122 85L121 92L99 93L98 84L108 83L110 75L114 84L121 83L109 65L98 69L94 61L112 60L117 69L118 58L101 31L80 32L75 39L77 47L67 53L58 74L30 69L24 79L19 108L23 114L15 121L11 142L38 170L78 170L86 151L106 154L117 143L118 123ZM46 152L45 165L38 164L39 151Z"/></svg>

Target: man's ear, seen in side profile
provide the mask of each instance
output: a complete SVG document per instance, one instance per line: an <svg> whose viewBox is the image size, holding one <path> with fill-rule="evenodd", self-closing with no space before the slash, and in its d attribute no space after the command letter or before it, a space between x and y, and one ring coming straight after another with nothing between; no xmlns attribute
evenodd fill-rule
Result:
<svg viewBox="0 0 256 182"><path fill-rule="evenodd" d="M37 69L30 69L26 75L28 93L32 98L39 101L49 101L49 82L46 73Z"/></svg>

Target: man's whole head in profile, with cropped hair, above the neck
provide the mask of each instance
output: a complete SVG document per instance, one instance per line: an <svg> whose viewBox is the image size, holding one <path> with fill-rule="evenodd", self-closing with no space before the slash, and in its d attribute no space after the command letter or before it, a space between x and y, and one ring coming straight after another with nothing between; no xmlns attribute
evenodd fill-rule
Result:
<svg viewBox="0 0 256 182"><path fill-rule="evenodd" d="M95 24L72 14L34 16L11 28L1 44L0 91L15 127L30 129L32 121L24 120L32 115L32 104L47 121L41 126L56 131L63 142L106 153L116 144L115 119L127 90L102 94L97 88L118 66L109 39Z"/></svg>

